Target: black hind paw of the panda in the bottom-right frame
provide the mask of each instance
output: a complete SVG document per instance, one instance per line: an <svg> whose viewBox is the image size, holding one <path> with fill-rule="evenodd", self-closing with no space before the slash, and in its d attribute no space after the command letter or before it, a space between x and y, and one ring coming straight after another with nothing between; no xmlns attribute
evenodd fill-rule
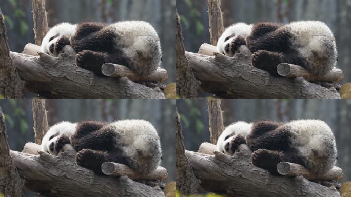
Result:
<svg viewBox="0 0 351 197"><path fill-rule="evenodd" d="M268 170L272 174L279 174L277 171L277 164L282 162L281 154L278 151L267 149L258 149L252 152L252 164Z"/></svg>

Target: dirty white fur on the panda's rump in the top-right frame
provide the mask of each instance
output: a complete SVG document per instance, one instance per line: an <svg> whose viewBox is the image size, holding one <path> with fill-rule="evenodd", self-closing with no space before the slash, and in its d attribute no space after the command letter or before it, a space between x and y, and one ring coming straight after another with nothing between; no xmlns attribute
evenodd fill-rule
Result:
<svg viewBox="0 0 351 197"><path fill-rule="evenodd" d="M307 62L307 69L316 75L324 75L337 63L337 47L332 30L320 21L292 22L287 28L293 35L293 48Z"/></svg>

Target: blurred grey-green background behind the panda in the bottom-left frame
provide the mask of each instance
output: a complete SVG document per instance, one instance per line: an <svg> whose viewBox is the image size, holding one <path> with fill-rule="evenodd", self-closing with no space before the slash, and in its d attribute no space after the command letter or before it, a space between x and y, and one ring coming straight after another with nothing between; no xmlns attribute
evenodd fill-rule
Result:
<svg viewBox="0 0 351 197"><path fill-rule="evenodd" d="M174 149L174 100L128 99L128 100L46 100L49 126L60 122L83 120L114 121L144 119L157 129L162 147L161 166L168 170L168 179L175 180ZM24 145L34 142L31 99L0 100L11 150L22 151ZM33 195L31 195L33 196Z"/></svg>

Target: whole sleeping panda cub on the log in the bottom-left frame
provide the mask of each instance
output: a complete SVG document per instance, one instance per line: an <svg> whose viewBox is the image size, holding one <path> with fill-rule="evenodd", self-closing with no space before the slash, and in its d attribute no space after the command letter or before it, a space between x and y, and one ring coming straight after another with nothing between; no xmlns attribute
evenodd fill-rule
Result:
<svg viewBox="0 0 351 197"><path fill-rule="evenodd" d="M57 155L65 144L77 151L77 165L103 174L104 162L129 166L140 174L155 170L161 161L160 137L144 120L112 123L85 121L60 122L50 127L42 140L42 151Z"/></svg>

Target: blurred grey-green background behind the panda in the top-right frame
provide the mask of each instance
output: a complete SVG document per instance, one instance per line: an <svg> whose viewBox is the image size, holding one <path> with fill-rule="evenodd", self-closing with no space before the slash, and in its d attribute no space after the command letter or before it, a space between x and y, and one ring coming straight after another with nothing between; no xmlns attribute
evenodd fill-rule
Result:
<svg viewBox="0 0 351 197"><path fill-rule="evenodd" d="M345 78L351 81L351 3L349 0L222 0L224 27L236 22L283 22L319 20L332 29L337 42L339 62ZM210 43L207 0L177 0L181 15L185 49L198 52Z"/></svg>

